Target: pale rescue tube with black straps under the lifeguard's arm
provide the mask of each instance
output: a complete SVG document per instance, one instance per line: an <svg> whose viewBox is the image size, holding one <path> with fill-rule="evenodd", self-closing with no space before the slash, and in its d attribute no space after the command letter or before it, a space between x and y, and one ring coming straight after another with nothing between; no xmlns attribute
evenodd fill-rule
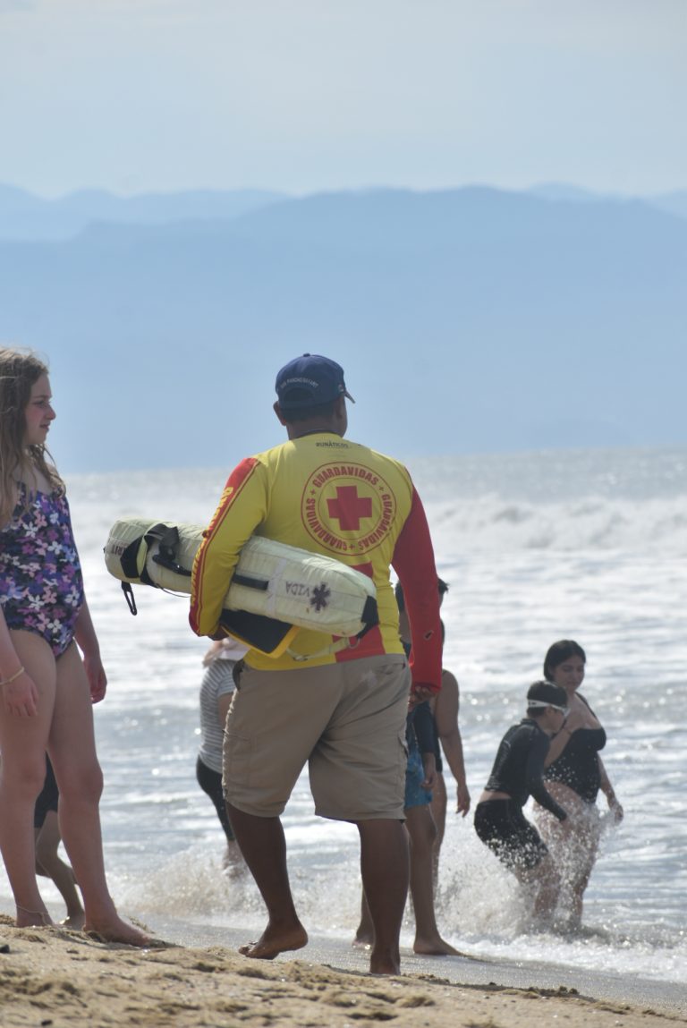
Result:
<svg viewBox="0 0 687 1028"><path fill-rule="evenodd" d="M142 518L116 521L105 544L105 564L122 583L142 583L190 593L190 572L203 527ZM378 623L374 583L366 575L319 553L253 536L241 551L224 600L225 612L245 612L327 635L353 637ZM266 648L246 637L246 619L222 618L230 634L278 656L285 645ZM239 629L233 631L232 624ZM282 633L282 641L286 633Z"/></svg>

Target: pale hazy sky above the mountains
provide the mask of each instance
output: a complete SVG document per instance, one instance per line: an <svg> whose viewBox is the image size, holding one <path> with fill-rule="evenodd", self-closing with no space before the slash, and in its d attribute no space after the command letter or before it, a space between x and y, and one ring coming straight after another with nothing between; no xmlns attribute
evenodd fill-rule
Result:
<svg viewBox="0 0 687 1028"><path fill-rule="evenodd" d="M0 0L0 181L687 188L687 0Z"/></svg>

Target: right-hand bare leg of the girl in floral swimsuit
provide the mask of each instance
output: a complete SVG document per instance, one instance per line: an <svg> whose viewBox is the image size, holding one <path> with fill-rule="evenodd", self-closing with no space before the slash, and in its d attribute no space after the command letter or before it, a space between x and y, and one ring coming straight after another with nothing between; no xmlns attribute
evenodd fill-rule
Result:
<svg viewBox="0 0 687 1028"><path fill-rule="evenodd" d="M118 916L105 879L99 813L103 775L88 681L75 644L58 658L57 670L47 748L60 787L60 830L83 896L84 928L108 942L145 946L150 940Z"/></svg>

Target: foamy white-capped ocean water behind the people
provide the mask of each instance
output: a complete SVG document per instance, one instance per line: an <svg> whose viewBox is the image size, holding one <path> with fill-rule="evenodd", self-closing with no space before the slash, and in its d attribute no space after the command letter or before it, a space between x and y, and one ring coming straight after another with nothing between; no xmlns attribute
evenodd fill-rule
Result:
<svg viewBox="0 0 687 1028"><path fill-rule="evenodd" d="M477 955L564 962L687 984L687 449L408 461L427 509L476 800L528 685L561 637L587 653L582 692L625 818L609 827L583 938L528 933L514 880L449 806L437 919ZM109 674L96 708L111 889L122 912L263 925L250 879L221 870L223 836L194 777L206 649L187 599L136 590L133 618L102 549L124 515L207 522L229 469L71 476L86 590ZM454 786L446 772L449 799ZM601 798L604 803L603 797ZM284 818L309 929L349 942L360 900L355 829L313 814L301 777ZM45 886L45 896L59 895ZM0 902L11 910L4 875ZM410 916L402 942L411 945ZM434 965L432 965L433 969Z"/></svg>

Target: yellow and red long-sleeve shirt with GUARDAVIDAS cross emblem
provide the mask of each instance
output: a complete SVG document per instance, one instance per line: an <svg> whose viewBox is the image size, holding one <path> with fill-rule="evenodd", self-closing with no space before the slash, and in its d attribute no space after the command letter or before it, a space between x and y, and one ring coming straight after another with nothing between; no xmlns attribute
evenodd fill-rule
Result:
<svg viewBox="0 0 687 1028"><path fill-rule="evenodd" d="M308 666L402 653L390 566L397 573L412 631L413 681L440 688L441 634L434 553L425 512L406 469L392 457L329 432L290 440L243 461L230 474L196 554L190 624L217 632L233 568L252 535L324 553L368 575L379 625L353 649L326 653ZM319 654L331 637L301 630L296 653ZM302 666L290 654L250 651L253 667Z"/></svg>

